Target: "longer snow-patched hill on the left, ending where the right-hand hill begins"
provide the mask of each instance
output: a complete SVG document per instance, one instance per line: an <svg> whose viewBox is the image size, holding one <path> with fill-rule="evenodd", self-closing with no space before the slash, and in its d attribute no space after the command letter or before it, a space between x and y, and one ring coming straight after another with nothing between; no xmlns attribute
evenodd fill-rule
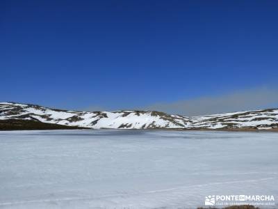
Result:
<svg viewBox="0 0 278 209"><path fill-rule="evenodd" d="M33 104L0 103L0 120L24 119L90 128L181 128L190 118L158 111L65 111Z"/></svg>

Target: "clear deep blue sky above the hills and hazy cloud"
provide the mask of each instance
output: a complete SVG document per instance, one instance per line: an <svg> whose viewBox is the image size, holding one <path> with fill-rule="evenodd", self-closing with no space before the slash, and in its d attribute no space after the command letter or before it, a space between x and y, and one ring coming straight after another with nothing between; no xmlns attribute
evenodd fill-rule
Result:
<svg viewBox="0 0 278 209"><path fill-rule="evenodd" d="M277 89L278 1L0 4L1 101L144 109Z"/></svg>

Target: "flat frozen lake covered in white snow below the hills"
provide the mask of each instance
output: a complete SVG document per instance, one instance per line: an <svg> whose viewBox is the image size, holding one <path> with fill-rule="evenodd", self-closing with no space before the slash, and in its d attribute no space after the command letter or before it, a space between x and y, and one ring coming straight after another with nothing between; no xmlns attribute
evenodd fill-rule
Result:
<svg viewBox="0 0 278 209"><path fill-rule="evenodd" d="M277 150L277 133L0 132L0 208L196 208L210 194L277 201Z"/></svg>

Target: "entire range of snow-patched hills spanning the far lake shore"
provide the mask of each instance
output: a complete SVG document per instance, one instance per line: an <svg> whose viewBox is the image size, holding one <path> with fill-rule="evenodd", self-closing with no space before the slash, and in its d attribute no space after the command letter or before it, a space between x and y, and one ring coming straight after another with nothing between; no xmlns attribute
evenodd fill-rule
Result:
<svg viewBox="0 0 278 209"><path fill-rule="evenodd" d="M34 104L0 103L0 120L24 120L89 128L265 129L278 128L278 109L186 117L159 111L66 111ZM0 122L1 122L0 121Z"/></svg>

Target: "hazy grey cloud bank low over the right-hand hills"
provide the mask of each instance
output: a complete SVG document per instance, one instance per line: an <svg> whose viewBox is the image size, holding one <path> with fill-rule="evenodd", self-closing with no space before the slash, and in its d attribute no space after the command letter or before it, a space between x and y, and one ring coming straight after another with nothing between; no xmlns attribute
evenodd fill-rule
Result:
<svg viewBox="0 0 278 209"><path fill-rule="evenodd" d="M143 109L155 109L157 111L167 112L168 114L200 116L231 111L277 107L277 104L278 88L261 87L236 91L225 95L203 96L191 100L158 102L144 107Z"/></svg>

